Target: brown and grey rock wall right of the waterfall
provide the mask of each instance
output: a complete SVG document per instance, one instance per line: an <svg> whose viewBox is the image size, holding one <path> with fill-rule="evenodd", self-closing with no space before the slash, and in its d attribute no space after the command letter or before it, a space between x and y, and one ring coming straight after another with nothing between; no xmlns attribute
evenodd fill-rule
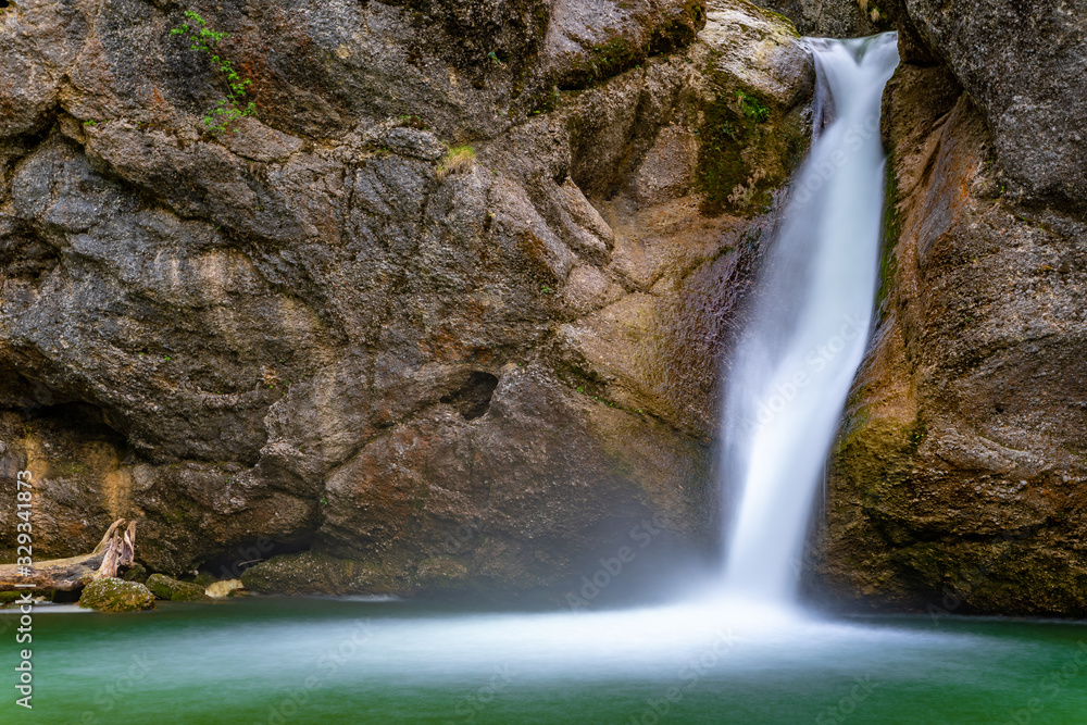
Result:
<svg viewBox="0 0 1087 725"><path fill-rule="evenodd" d="M880 323L815 570L869 604L1082 616L1084 89L1051 74L1085 39L1048 35L1078 23L1059 4L908 8L929 47L885 97Z"/></svg>

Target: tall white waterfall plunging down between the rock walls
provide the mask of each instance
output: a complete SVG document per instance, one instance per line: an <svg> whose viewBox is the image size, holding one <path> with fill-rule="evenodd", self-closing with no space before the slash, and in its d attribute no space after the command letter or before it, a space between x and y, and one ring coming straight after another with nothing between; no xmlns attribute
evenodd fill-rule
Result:
<svg viewBox="0 0 1087 725"><path fill-rule="evenodd" d="M879 262L883 88L898 38L805 40L819 84L792 185L727 373L725 589L796 596L808 518L872 322Z"/></svg>

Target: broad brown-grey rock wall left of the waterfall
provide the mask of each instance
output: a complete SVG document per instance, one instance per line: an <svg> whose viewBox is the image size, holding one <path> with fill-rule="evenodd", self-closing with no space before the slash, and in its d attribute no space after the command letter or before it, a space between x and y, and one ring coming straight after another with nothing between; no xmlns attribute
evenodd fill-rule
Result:
<svg viewBox="0 0 1087 725"><path fill-rule="evenodd" d="M152 571L309 548L374 573L316 590L412 592L576 579L642 522L712 549L716 360L807 142L791 26L193 10L252 82L236 133L179 10L0 11L0 468L41 555L125 516Z"/></svg>

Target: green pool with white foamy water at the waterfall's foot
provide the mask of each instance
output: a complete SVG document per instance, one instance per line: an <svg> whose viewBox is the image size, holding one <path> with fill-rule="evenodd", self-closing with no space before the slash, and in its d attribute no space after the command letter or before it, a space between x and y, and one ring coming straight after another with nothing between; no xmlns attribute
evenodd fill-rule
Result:
<svg viewBox="0 0 1087 725"><path fill-rule="evenodd" d="M26 711L12 617L3 723L1087 723L1087 626L1073 623L819 621L712 602L39 608Z"/></svg>

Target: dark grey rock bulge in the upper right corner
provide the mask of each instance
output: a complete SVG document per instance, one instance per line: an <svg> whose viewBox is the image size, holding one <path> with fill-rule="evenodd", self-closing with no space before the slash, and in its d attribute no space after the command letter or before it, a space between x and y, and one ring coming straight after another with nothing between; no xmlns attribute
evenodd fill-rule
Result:
<svg viewBox="0 0 1087 725"><path fill-rule="evenodd" d="M1083 7L908 0L921 37L977 104L1008 193L1083 213L1087 198L1087 35Z"/></svg>

